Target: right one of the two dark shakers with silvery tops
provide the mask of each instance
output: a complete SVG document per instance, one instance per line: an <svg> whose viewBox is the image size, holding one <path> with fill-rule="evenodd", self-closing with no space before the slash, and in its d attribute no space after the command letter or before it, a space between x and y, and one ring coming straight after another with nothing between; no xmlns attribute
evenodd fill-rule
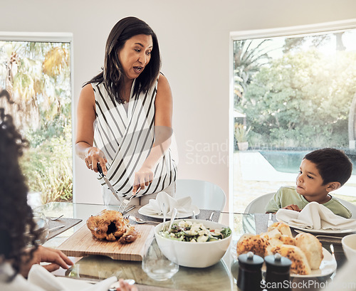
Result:
<svg viewBox="0 0 356 291"><path fill-rule="evenodd" d="M291 291L290 288L290 265L288 258L279 253L265 257L266 262L266 290Z"/></svg>

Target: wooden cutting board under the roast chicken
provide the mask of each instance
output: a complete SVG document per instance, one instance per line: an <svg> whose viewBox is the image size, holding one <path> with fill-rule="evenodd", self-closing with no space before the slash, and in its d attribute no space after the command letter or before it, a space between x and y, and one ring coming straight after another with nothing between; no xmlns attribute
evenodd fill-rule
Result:
<svg viewBox="0 0 356 291"><path fill-rule="evenodd" d="M70 257L107 255L114 260L142 260L145 253L145 242L153 238L155 226L135 225L135 229L139 233L137 239L133 243L123 245L117 240L108 241L94 238L85 225L62 243L58 249Z"/></svg>

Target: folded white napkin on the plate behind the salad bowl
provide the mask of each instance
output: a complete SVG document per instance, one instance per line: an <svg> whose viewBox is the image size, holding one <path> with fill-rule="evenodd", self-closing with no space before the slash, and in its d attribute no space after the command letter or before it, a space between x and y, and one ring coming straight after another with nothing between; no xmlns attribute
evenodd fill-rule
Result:
<svg viewBox="0 0 356 291"><path fill-rule="evenodd" d="M191 216L193 212L192 198L187 196L181 199L174 199L166 192L159 192L156 199L150 199L145 206L145 213L148 215L163 214L163 203L166 205L166 214L169 216L173 208L177 209L177 216Z"/></svg>

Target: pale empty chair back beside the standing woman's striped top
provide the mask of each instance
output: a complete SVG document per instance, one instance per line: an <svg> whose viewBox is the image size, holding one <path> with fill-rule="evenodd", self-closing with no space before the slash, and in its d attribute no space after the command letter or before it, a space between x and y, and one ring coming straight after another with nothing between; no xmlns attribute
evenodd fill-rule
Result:
<svg viewBox="0 0 356 291"><path fill-rule="evenodd" d="M223 211L226 196L224 190L209 181L177 179L176 199L191 196L192 204L199 209Z"/></svg>

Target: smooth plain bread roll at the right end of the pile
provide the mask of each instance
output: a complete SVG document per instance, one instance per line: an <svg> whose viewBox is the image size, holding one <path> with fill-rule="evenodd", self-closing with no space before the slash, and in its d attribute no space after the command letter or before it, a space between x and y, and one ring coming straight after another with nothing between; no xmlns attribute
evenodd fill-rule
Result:
<svg viewBox="0 0 356 291"><path fill-rule="evenodd" d="M298 236L295 236L295 245L305 253L310 269L317 270L320 268L324 255L323 246L318 238L315 238L310 233L300 233Z"/></svg>

